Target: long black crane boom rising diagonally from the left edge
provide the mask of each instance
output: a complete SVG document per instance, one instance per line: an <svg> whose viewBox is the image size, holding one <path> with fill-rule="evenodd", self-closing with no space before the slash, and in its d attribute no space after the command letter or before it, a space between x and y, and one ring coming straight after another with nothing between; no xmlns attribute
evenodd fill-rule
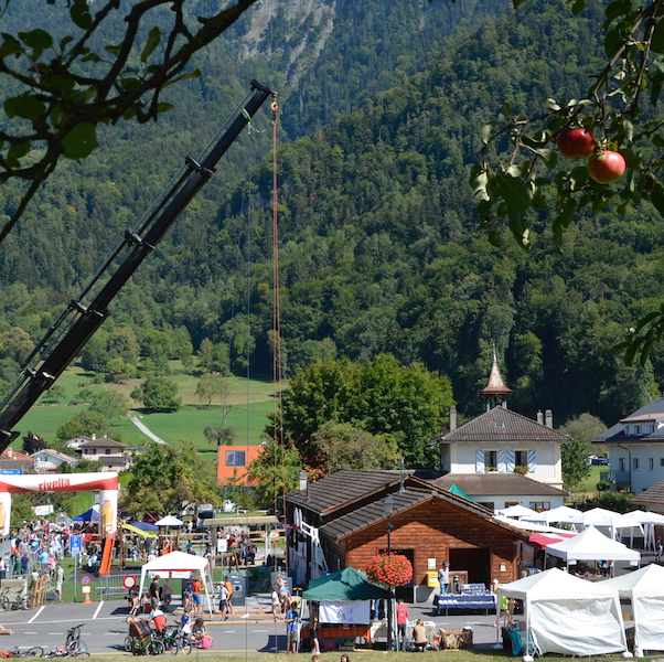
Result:
<svg viewBox="0 0 664 662"><path fill-rule="evenodd" d="M0 452L20 435L19 431L12 428L38 398L53 385L101 325L109 314L108 305L148 254L163 238L163 235L178 216L207 183L214 173L215 166L250 121L250 118L269 96L276 96L271 89L256 81L251 81L251 92L254 94L245 107L236 115L226 131L208 150L205 158L201 160L201 163L192 158L185 160L183 174L173 184L168 196L163 199L161 204L156 207L138 229L125 232L124 237L107 257L103 267L86 285L83 292L69 303L65 312L28 357L22 366L21 378L0 404ZM130 248L125 260L119 264L90 303L84 306L82 302L83 295L92 289L92 285L98 280L99 276L106 271L125 247ZM30 363L35 356L38 361L35 366L32 367Z"/></svg>

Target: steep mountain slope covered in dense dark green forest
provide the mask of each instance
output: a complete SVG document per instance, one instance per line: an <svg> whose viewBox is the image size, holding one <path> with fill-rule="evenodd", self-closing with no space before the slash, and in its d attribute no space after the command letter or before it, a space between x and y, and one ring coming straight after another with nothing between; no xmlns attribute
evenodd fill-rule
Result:
<svg viewBox="0 0 664 662"><path fill-rule="evenodd" d="M525 255L508 239L497 249L474 232L467 183L479 129L502 102L536 113L547 95L582 95L601 55L601 8L571 17L559 2L534 0L517 15L488 18L441 53L430 53L431 62L419 73L325 124L326 99L335 99L335 110L352 109L352 102L373 90L366 79L392 85L395 74L401 75L399 58L408 57L407 40L389 21L383 30L394 25L392 36L385 32L381 44L362 31L351 34L351 23L339 35L347 44L335 42L339 17L351 12L352 4L356 9L355 3L334 6L334 30L310 68L298 71L298 58L282 55L283 72L298 86L290 102L288 94L282 98L283 124L293 135L301 127L311 129L282 143L279 152L288 370L315 356L366 361L392 352L405 363L420 360L447 374L461 410L473 414L482 406L476 392L484 385L495 342L515 391L511 406L524 414L551 407L558 423L581 412L610 421L635 408L649 388L662 384L662 352L655 351L646 370L628 371L610 348L629 323L662 299L658 214L642 207L619 216L608 207L579 217L567 232L563 255L548 241L543 216L535 223L540 231L536 247ZM394 9L392 20L401 17L408 24L411 15L399 13L398 6L381 3ZM322 43L323 24L330 25L325 11L311 12L310 23L302 23L312 35L302 57ZM366 22L378 15L367 14ZM294 19L288 20L292 24ZM278 25L276 21L275 30ZM247 23L236 36L256 30ZM376 57L386 42L401 44L400 53ZM258 79L261 73L272 75L278 44L249 49L248 43L245 39L251 60L238 66L224 46L214 55L215 74L206 68L202 81L175 93L183 106L179 114L157 127L109 136L86 162L67 164L52 178L40 205L0 246L2 329L20 325L36 338L57 310L54 303L68 300L183 154L203 147L210 125L216 124L212 117L216 120L222 106L242 98L243 85L218 72L235 66L244 73L254 64L251 75ZM410 65L424 58L417 40L413 43ZM365 62L354 61L357 71L350 63L332 71L331 63L344 62L353 47L367 50ZM268 78L261 82L271 84ZM255 131L234 146L221 174L223 185L208 186L178 222L118 298L108 329L131 327L139 338L150 328L186 329L196 350L204 339L227 342L233 311L242 308L247 287L234 277L240 245L243 264L247 258L251 263L251 305L248 327L246 307L236 317L248 334L236 333L254 348L251 369L269 371L270 159L242 172L243 163L266 154L269 117L255 125L266 134ZM1 205L10 204L9 195L6 191ZM234 370L242 370L245 350L232 355Z"/></svg>

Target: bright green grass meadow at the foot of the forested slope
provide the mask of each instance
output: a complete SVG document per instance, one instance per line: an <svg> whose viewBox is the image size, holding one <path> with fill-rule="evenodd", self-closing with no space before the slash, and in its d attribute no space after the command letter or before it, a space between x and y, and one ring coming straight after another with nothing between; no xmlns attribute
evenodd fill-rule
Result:
<svg viewBox="0 0 664 662"><path fill-rule="evenodd" d="M171 370L178 370L178 363L173 362ZM179 395L182 397L183 406L171 414L148 414L140 407L139 403L131 401L133 413L141 417L141 421L156 435L169 444L178 444L183 440L193 441L201 450L210 449L212 446L205 439L203 431L207 426L219 426L222 424L222 407L218 398L213 401L211 407L201 403L195 395L197 380L191 375L173 374L169 377L178 384ZM86 409L86 405L67 405L82 388L90 388L93 392L103 389L119 391L127 397L139 384L139 380L128 380L122 384L94 384L93 375L74 366L65 371L57 381L57 385L64 388L65 398L61 404L39 404L23 417L17 426L21 434L29 430L43 437L46 441L55 439L55 431L60 425L69 420L78 412ZM236 441L239 445L256 445L263 439L263 430L267 425L267 415L275 410L275 396L278 389L271 380L243 377L229 378L231 412L227 423L237 430ZM149 439L139 430L129 418L116 419L114 426L105 430L111 439L121 440L124 444L143 445ZM19 437L13 447L20 448L22 439Z"/></svg>

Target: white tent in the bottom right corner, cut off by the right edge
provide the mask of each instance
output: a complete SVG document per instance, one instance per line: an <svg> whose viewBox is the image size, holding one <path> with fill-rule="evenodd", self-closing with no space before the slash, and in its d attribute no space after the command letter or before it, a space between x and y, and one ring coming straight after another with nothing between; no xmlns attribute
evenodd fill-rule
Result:
<svg viewBox="0 0 664 662"><path fill-rule="evenodd" d="M600 581L607 590L632 600L634 612L634 654L664 651L664 568L656 564Z"/></svg>

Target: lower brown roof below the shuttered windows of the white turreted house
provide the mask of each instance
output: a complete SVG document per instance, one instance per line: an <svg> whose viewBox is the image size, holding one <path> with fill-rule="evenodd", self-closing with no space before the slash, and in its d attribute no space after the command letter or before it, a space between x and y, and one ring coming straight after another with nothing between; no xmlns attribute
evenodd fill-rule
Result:
<svg viewBox="0 0 664 662"><path fill-rule="evenodd" d="M469 496L566 496L567 492L522 476L521 473L490 471L489 473L446 473L432 481L435 485L449 490L457 485Z"/></svg>

